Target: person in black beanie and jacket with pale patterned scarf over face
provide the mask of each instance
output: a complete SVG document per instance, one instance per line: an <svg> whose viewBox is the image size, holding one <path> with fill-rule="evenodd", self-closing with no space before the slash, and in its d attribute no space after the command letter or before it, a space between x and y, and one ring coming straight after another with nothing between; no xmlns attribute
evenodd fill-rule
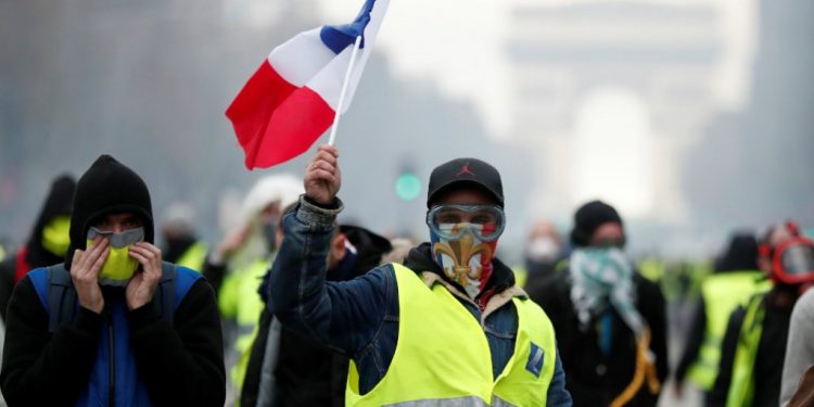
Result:
<svg viewBox="0 0 814 407"><path fill-rule="evenodd" d="M659 287L625 255L622 217L605 202L576 211L571 243L564 272L532 300L551 316L574 406L656 406L667 374Z"/></svg>

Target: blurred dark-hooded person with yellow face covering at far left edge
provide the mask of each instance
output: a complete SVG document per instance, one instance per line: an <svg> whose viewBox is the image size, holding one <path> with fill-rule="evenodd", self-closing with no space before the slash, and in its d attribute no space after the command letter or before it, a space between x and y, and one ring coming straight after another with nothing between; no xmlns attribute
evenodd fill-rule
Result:
<svg viewBox="0 0 814 407"><path fill-rule="evenodd" d="M37 216L28 241L13 255L0 263L0 316L5 320L5 307L14 285L31 269L62 263L71 242L71 205L76 181L61 175L51 182L46 202Z"/></svg>

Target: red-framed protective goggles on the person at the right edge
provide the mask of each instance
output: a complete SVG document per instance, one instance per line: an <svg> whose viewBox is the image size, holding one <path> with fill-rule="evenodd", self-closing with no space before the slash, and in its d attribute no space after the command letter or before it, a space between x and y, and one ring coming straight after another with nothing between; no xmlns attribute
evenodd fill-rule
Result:
<svg viewBox="0 0 814 407"><path fill-rule="evenodd" d="M772 250L761 246L761 254L772 260L775 277L787 284L814 282L814 242L796 237Z"/></svg>

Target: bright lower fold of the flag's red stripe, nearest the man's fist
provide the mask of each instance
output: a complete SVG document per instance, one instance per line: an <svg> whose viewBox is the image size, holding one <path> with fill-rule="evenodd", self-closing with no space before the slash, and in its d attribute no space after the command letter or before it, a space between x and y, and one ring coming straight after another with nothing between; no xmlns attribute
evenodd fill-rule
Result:
<svg viewBox="0 0 814 407"><path fill-rule="evenodd" d="M246 167L270 167L306 152L333 123L331 106L314 90L295 90L271 114L255 155Z"/></svg>

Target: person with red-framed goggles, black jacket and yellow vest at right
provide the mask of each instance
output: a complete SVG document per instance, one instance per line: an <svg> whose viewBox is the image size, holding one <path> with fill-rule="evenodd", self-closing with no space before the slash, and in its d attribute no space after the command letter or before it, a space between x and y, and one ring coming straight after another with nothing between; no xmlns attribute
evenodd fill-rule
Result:
<svg viewBox="0 0 814 407"><path fill-rule="evenodd" d="M791 311L798 297L814 284L814 242L788 222L772 227L761 243L758 262L774 285L729 317L710 406L776 406L779 402Z"/></svg>

